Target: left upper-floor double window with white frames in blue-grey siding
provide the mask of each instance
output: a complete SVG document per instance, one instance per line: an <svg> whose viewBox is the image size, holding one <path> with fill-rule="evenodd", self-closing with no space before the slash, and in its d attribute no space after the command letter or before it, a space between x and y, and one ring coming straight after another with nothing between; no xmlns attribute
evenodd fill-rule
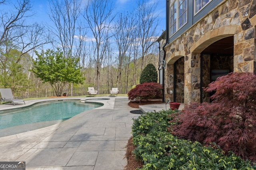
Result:
<svg viewBox="0 0 256 170"><path fill-rule="evenodd" d="M187 9L187 0L170 1L170 36L187 22Z"/></svg>

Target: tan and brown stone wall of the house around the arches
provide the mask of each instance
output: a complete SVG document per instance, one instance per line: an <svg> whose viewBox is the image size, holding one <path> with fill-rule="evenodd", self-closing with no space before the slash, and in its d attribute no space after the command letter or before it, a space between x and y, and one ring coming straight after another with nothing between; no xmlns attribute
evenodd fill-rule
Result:
<svg viewBox="0 0 256 170"><path fill-rule="evenodd" d="M184 61L184 104L200 102L200 53L210 44L234 36L234 71L255 72L256 0L223 0L166 47L166 98L170 98L172 64Z"/></svg>

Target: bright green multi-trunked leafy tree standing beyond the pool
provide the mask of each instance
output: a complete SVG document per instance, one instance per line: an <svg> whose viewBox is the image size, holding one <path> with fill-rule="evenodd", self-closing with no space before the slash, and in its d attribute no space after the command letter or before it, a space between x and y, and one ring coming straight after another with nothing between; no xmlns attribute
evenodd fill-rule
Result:
<svg viewBox="0 0 256 170"><path fill-rule="evenodd" d="M61 96L63 88L68 83L83 83L85 79L79 67L79 58L65 58L60 50L46 50L41 54L36 52L31 71L43 82L49 82L56 96Z"/></svg>

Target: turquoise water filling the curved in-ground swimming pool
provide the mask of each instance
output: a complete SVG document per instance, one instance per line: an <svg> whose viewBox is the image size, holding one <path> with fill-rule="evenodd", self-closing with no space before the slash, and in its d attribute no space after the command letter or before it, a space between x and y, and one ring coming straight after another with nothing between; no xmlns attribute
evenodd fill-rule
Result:
<svg viewBox="0 0 256 170"><path fill-rule="evenodd" d="M100 103L80 101L46 102L34 106L0 112L0 129L56 120L69 119L83 111L103 106Z"/></svg>

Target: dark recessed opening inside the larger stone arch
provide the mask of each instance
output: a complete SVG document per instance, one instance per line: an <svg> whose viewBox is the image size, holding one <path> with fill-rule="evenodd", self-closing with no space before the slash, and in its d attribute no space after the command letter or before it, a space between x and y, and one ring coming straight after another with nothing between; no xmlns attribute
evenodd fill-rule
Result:
<svg viewBox="0 0 256 170"><path fill-rule="evenodd" d="M200 102L211 102L212 93L203 87L215 81L219 76L234 70L234 37L226 37L209 45L201 53Z"/></svg>

